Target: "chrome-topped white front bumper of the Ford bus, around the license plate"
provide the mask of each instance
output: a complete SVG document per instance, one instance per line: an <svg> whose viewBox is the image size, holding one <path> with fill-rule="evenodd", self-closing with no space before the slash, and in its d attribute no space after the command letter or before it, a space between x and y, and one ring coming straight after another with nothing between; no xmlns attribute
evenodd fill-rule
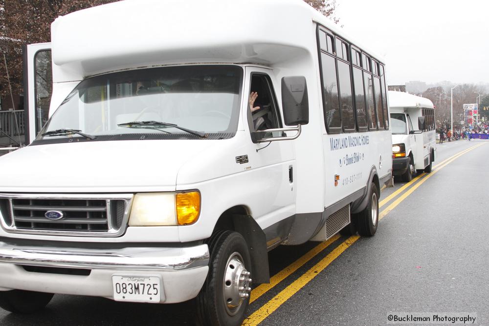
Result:
<svg viewBox="0 0 489 326"><path fill-rule="evenodd" d="M0 242L0 290L41 292L113 298L111 277L157 276L161 278L162 302L194 298L207 277L209 249L193 247L128 247L79 249L19 246ZM49 272L29 272L23 266L48 267ZM60 268L60 272L56 272ZM63 268L89 270L89 275L68 275Z"/></svg>

